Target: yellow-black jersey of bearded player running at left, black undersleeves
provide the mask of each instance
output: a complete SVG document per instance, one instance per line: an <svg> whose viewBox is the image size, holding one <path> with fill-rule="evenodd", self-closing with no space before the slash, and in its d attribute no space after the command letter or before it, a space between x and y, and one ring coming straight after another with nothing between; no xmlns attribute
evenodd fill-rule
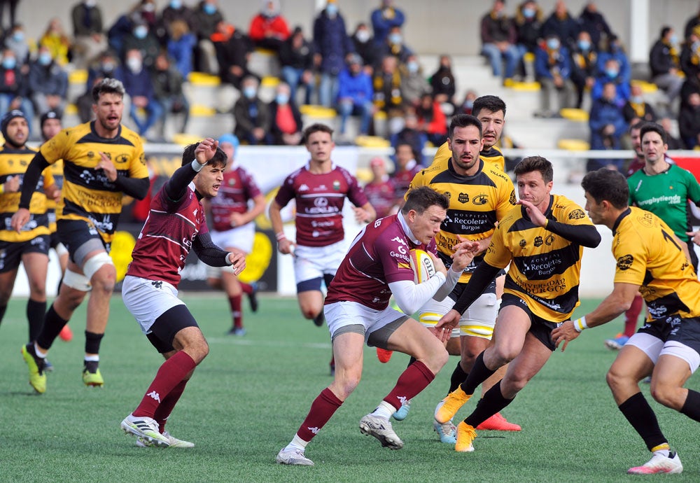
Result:
<svg viewBox="0 0 700 483"><path fill-rule="evenodd" d="M122 211L123 193L95 167L104 153L120 176L148 178L139 134L120 126L117 137L104 139L97 135L92 121L62 130L41 145L40 151L49 164L63 160L64 182L56 218L90 221L109 243Z"/></svg>

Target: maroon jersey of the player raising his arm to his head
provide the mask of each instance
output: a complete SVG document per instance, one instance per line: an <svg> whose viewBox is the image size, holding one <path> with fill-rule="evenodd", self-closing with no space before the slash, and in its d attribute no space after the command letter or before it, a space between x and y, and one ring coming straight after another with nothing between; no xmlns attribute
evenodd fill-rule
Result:
<svg viewBox="0 0 700 483"><path fill-rule="evenodd" d="M127 275L167 281L177 288L180 272L199 233L208 233L202 202L187 188L179 202L172 202L160 188L151 202L144 228L134 246Z"/></svg>

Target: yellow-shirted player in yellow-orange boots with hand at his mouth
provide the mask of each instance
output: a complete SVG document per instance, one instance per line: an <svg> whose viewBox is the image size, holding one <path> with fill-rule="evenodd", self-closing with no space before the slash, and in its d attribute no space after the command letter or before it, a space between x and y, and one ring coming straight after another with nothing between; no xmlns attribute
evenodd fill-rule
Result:
<svg viewBox="0 0 700 483"><path fill-rule="evenodd" d="M500 220L484 260L462 295L435 328L451 330L500 269L506 274L493 345L477 356L467 379L444 398L435 412L449 421L477 386L510 363L505 376L484 394L476 409L457 426L456 451L474 451L474 428L512 402L549 360L556 346L550 333L579 304L583 247L595 248L601 235L584 211L552 195L552 163L540 156L515 167L519 204Z"/></svg>

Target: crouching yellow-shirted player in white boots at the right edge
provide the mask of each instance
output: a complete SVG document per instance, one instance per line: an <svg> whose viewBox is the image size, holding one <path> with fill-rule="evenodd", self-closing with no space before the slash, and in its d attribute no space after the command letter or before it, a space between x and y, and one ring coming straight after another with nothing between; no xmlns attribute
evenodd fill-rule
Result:
<svg viewBox="0 0 700 483"><path fill-rule="evenodd" d="M583 329L629 309L641 293L649 309L646 323L620 349L608 370L608 386L620 412L652 451L647 463L627 472L680 473L680 458L661 433L639 381L651 375L657 402L700 421L700 393L683 387L700 365L700 281L687 258L687 245L673 230L650 211L628 206L629 186L622 174L598 169L584 176L581 185L593 223L612 230L615 285L594 311L563 323L552 338L565 349Z"/></svg>

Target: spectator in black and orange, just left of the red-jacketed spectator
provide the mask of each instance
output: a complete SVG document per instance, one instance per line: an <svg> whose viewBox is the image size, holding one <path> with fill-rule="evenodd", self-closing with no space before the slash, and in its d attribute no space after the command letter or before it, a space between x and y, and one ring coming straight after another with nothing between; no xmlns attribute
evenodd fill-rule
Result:
<svg viewBox="0 0 700 483"><path fill-rule="evenodd" d="M246 34L222 20L216 25L211 41L216 50L221 82L231 84L238 90L241 90L241 80L245 77L254 76L259 82L259 77L248 70L253 45Z"/></svg>

